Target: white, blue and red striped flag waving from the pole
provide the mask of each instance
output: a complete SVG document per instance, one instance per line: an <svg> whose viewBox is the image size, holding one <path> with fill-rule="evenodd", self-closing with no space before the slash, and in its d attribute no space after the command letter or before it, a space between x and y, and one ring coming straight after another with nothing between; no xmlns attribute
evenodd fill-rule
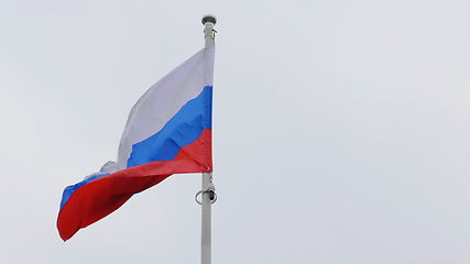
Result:
<svg viewBox="0 0 470 264"><path fill-rule="evenodd" d="M215 46L196 53L134 105L118 161L65 188L57 229L66 241L172 174L210 173Z"/></svg>

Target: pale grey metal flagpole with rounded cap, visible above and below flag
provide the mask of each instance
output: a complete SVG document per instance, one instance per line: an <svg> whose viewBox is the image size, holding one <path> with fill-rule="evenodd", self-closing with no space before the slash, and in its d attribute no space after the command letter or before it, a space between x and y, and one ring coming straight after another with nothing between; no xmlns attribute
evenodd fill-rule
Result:
<svg viewBox="0 0 470 264"><path fill-rule="evenodd" d="M203 18L204 24L204 38L206 43L206 47L211 44L215 44L215 30L214 25L217 20L214 15L205 15ZM211 262L211 216L210 209L211 204L216 199L215 187L212 184L212 173L203 173L203 190L201 190L201 230L200 230L200 263L201 264L210 264Z"/></svg>

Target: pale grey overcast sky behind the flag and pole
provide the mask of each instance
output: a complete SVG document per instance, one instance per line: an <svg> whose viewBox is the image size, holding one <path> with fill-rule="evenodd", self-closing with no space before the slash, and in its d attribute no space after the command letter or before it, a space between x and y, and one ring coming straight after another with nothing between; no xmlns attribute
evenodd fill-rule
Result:
<svg viewBox="0 0 470 264"><path fill-rule="evenodd" d="M198 263L199 175L67 243L62 190L215 13L214 263L470 263L468 1L0 1L1 263Z"/></svg>

